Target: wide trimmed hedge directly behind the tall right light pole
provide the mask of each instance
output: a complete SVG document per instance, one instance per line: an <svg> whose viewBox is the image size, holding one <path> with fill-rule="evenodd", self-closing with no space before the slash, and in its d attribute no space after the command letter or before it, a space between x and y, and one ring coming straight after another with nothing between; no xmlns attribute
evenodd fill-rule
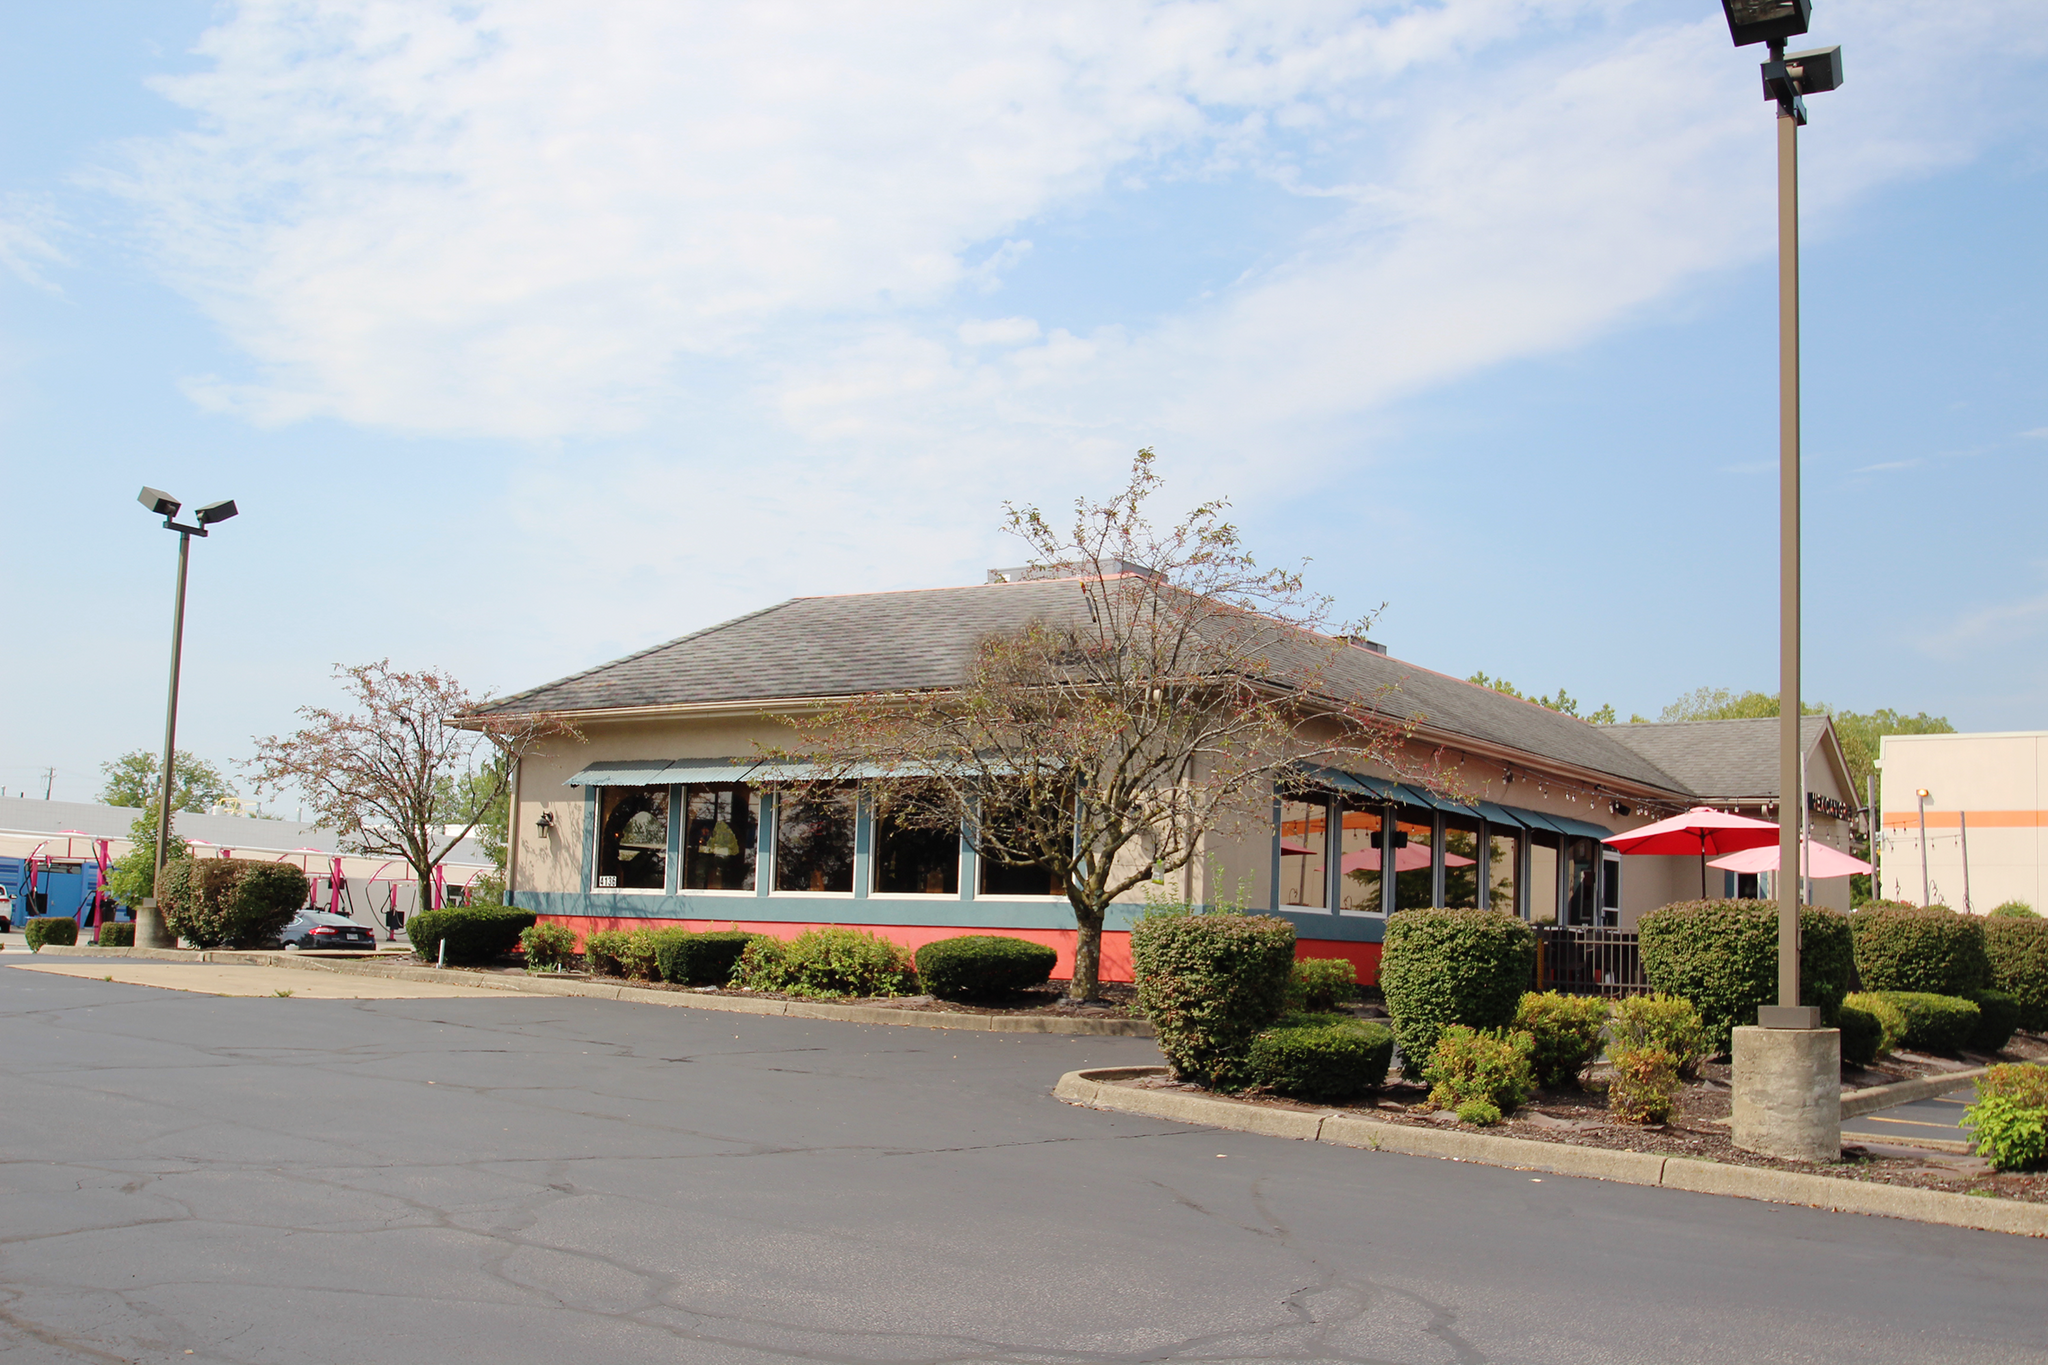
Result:
<svg viewBox="0 0 2048 1365"><path fill-rule="evenodd" d="M1800 1001L1819 1005L1833 1025L1855 982L1849 917L1804 907L1798 923ZM1757 1005L1778 1001L1776 900L1679 900L1645 915L1636 933L1642 972L1661 995L1692 1001L1714 1052L1729 1050L1739 1025L1757 1021Z"/></svg>

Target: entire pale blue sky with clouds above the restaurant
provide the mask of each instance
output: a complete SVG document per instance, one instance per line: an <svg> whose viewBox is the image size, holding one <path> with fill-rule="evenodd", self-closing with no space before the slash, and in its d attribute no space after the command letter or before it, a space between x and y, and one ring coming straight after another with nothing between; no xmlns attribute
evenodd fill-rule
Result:
<svg viewBox="0 0 2048 1365"><path fill-rule="evenodd" d="M244 510L217 761L338 661L512 690L979 581L1141 444L1405 659L1776 688L1772 115L1714 4L16 8L8 792L162 743L143 483ZM2048 10L1812 39L1806 694L2048 726Z"/></svg>

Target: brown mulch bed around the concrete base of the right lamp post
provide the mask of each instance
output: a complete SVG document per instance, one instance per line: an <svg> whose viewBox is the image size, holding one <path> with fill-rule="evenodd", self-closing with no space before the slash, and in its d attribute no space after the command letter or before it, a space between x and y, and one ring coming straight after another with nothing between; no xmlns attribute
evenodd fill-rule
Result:
<svg viewBox="0 0 2048 1365"><path fill-rule="evenodd" d="M1843 1089L1864 1089L1868 1085L1888 1085L1913 1076L1935 1074L1939 1070L1960 1070L1962 1066L1982 1066L1985 1062L2042 1062L2048 1060L2048 1038L2015 1033L2003 1054L1995 1058L1966 1056L1962 1062L1948 1058L1917 1058L1894 1054L1884 1058L1880 1068L1851 1072L1843 1078ZM1919 1189L1942 1189L1960 1195L1989 1195L1999 1199L2023 1199L2028 1203L2048 1203L2048 1173L1997 1173L1980 1156L1954 1152L1915 1152L1903 1146L1843 1146L1843 1160L1810 1166L1796 1160L1780 1160L1745 1152L1729 1136L1729 1066L1706 1064L1700 1078L1688 1085L1667 1124L1634 1126L1618 1124L1608 1113L1606 1081L1595 1070L1583 1091L1538 1091L1522 1109L1507 1119L1479 1130L1460 1124L1458 1115L1427 1107L1427 1089L1391 1076L1372 1097L1352 1105L1309 1105L1278 1095L1245 1093L1245 1099L1276 1109L1303 1109L1323 1113L1358 1113L1386 1124L1409 1128L1458 1128L1462 1132L1487 1132L1501 1138L1528 1138L1532 1142L1561 1142L1567 1146L1608 1148L1616 1152L1651 1152L1657 1156L1690 1156L1694 1160L1718 1160L1731 1166L1761 1166L1765 1171L1800 1171L1806 1175L1831 1175L1849 1181L1874 1181L1880 1185L1913 1185ZM1171 1081L1169 1076L1141 1076L1124 1081L1137 1089L1208 1093L1198 1085Z"/></svg>

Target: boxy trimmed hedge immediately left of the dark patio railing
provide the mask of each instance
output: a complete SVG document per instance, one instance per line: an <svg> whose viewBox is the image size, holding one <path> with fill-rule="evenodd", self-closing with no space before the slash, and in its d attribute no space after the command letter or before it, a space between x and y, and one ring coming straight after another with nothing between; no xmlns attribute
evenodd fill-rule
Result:
<svg viewBox="0 0 2048 1365"><path fill-rule="evenodd" d="M1536 976L1536 933L1499 911L1403 911L1386 921L1380 990L1401 1070L1419 1076L1452 1023L1501 1029ZM1507 1105L1513 1109L1513 1105Z"/></svg>

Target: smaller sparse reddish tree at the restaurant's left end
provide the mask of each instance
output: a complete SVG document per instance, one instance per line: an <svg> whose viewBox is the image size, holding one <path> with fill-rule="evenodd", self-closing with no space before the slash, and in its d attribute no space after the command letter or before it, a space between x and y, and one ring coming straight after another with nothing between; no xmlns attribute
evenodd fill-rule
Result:
<svg viewBox="0 0 2048 1365"><path fill-rule="evenodd" d="M297 786L317 825L352 851L406 860L422 894L434 868L504 796L512 761L543 739L575 735L549 714L479 716L487 698L434 669L406 673L381 659L336 665L334 675L354 706L301 706L305 729L256 741L250 780L258 790ZM457 788L471 800L451 808Z"/></svg>

